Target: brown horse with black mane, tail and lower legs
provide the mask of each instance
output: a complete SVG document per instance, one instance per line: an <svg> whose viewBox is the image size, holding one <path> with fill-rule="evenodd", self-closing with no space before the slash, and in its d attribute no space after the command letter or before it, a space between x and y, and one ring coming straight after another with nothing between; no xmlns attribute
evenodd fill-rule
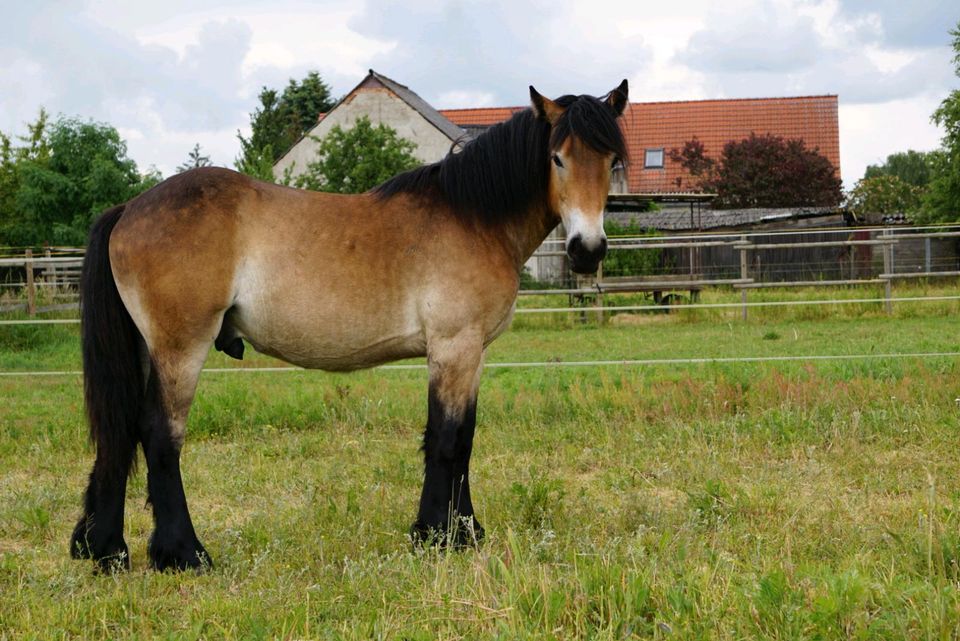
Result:
<svg viewBox="0 0 960 641"><path fill-rule="evenodd" d="M469 465L486 347L510 324L523 265L563 223L579 273L607 241L627 81L530 107L439 162L363 194L308 192L222 168L173 176L105 211L81 275L84 400L96 457L74 558L130 567L123 536L138 445L156 570L211 567L180 474L211 347L348 371L426 356L424 480L415 543L476 545ZM279 286L281 285L282 286Z"/></svg>

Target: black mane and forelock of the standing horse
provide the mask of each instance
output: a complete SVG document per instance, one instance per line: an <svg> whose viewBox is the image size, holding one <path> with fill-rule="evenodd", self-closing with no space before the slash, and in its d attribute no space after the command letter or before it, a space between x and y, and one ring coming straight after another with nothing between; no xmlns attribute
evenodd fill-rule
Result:
<svg viewBox="0 0 960 641"><path fill-rule="evenodd" d="M430 165L391 178L373 190L386 199L413 194L436 199L460 216L501 222L527 212L546 198L551 152L570 136L601 153L626 161L617 113L593 96L555 100L564 113L551 128L524 109Z"/></svg>

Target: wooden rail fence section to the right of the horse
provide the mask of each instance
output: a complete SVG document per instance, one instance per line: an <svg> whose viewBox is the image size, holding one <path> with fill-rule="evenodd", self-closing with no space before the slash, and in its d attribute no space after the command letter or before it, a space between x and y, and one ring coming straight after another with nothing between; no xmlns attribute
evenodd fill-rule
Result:
<svg viewBox="0 0 960 641"><path fill-rule="evenodd" d="M558 245L548 241L535 255L562 256ZM934 243L937 243L936 245ZM875 252L874 250L878 250ZM899 279L951 278L960 276L960 231L955 227L844 228L711 234L697 236L612 239L609 251L658 251L674 254L663 261L661 273L605 276L601 265L595 277L571 277L573 286L531 288L521 295L567 294L571 311L576 299L594 297L602 314L603 295L622 292L652 293L654 302L673 304L671 292L685 292L696 303L707 287L730 287L740 292L741 317L747 318L750 290L791 287L883 285L884 308L893 310L893 283ZM705 261L709 252L714 261ZM725 252L728 256L723 256ZM779 261L764 261L771 253ZM731 260L729 255L735 255ZM679 256L679 260L677 257ZM722 256L722 260L721 260ZM782 257L788 258L783 259ZM898 260L899 257L899 260ZM771 262L778 269L770 269ZM739 269L733 271L732 266ZM763 269L766 267L766 269ZM806 278L790 278L792 274ZM787 277L785 277L787 276Z"/></svg>

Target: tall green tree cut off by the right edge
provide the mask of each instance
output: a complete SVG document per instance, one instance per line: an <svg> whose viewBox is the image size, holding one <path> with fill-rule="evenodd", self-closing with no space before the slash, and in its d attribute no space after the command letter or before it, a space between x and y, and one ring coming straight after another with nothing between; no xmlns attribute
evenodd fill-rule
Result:
<svg viewBox="0 0 960 641"><path fill-rule="evenodd" d="M960 22L953 36L954 73L960 77ZM931 178L917 222L954 221L960 217L960 89L954 89L931 117L943 127L940 151L932 158Z"/></svg>

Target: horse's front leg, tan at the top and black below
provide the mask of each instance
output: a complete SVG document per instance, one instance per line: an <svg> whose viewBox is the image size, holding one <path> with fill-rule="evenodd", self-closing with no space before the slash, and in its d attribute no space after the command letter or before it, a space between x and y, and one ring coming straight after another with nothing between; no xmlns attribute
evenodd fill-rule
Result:
<svg viewBox="0 0 960 641"><path fill-rule="evenodd" d="M431 340L428 362L423 492L411 535L415 543L474 545L483 538L473 513L469 478L483 341L471 332Z"/></svg>

